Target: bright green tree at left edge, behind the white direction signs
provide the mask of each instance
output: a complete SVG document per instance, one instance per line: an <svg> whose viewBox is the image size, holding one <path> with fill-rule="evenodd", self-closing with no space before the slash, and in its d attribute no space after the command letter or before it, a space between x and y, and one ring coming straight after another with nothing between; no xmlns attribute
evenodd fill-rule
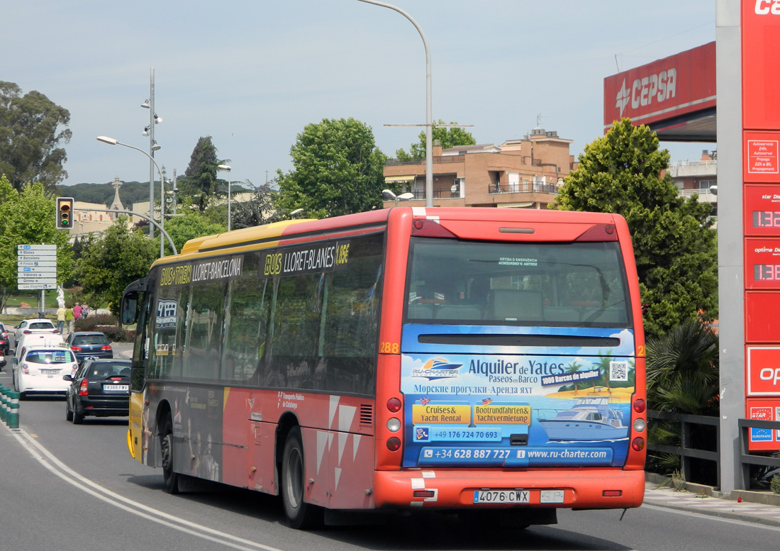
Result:
<svg viewBox="0 0 780 551"><path fill-rule="evenodd" d="M73 253L68 233L55 228L55 198L42 183L25 184L20 192L0 176L0 309L16 287L16 245L23 244L56 245L57 282L68 279Z"/></svg>

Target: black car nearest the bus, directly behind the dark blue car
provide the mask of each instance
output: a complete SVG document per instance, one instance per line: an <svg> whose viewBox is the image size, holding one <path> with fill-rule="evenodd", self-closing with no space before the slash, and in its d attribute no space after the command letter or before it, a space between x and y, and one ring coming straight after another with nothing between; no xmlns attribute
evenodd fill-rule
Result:
<svg viewBox="0 0 780 551"><path fill-rule="evenodd" d="M70 381L66 394L65 418L80 425L87 415L124 416L130 406L130 361L87 358Z"/></svg>

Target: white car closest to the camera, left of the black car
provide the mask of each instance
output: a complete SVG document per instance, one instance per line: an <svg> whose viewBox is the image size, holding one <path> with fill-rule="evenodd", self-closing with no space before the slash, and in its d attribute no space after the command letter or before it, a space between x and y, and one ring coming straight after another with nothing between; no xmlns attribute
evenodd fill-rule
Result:
<svg viewBox="0 0 780 551"><path fill-rule="evenodd" d="M62 377L75 375L79 368L73 350L66 347L25 347L11 363L13 386L20 398L28 393L66 394L70 381Z"/></svg>

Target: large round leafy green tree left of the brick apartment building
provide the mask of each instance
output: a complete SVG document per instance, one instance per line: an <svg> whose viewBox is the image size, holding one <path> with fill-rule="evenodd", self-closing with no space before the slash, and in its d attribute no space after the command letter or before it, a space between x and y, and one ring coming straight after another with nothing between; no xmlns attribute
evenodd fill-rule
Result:
<svg viewBox="0 0 780 551"><path fill-rule="evenodd" d="M278 171L277 208L303 208L310 218L381 208L385 155L371 126L349 119L308 124L290 148L293 170Z"/></svg>

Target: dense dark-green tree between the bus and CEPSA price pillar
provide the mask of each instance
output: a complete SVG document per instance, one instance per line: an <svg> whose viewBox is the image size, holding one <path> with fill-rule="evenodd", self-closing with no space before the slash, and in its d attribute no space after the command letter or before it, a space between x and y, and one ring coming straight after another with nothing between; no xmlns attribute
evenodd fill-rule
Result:
<svg viewBox="0 0 780 551"><path fill-rule="evenodd" d="M629 119L585 147L551 208L616 212L628 222L648 336L680 322L718 315L717 234L711 205L679 197L667 150L647 126Z"/></svg>

